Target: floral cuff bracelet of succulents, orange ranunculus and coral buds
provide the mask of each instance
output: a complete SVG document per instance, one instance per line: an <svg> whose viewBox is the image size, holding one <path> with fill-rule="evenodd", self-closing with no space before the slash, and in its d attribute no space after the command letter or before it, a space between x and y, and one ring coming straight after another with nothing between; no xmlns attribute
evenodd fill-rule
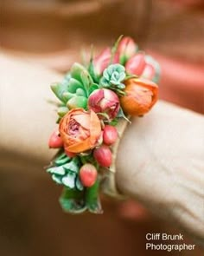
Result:
<svg viewBox="0 0 204 256"><path fill-rule="evenodd" d="M119 141L131 116L143 116L156 103L159 76L159 64L131 37L120 36L51 85L60 102L48 146L59 150L47 172L63 186L65 212L102 213L99 191L125 198L115 183Z"/></svg>

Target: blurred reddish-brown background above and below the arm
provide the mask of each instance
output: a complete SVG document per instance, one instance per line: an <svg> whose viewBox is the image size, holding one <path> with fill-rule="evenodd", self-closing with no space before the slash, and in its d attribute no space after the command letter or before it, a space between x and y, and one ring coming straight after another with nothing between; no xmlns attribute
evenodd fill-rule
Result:
<svg viewBox="0 0 204 256"><path fill-rule="evenodd" d="M63 73L80 61L79 49L89 52L94 44L98 52L121 34L132 36L161 65L160 98L204 113L203 0L0 3L0 50L6 55ZM146 233L180 232L131 200L104 199L101 216L67 215L58 204L60 194L61 187L42 167L29 175L23 169L1 167L0 255L165 256L163 251L145 251ZM170 254L202 253L197 246Z"/></svg>

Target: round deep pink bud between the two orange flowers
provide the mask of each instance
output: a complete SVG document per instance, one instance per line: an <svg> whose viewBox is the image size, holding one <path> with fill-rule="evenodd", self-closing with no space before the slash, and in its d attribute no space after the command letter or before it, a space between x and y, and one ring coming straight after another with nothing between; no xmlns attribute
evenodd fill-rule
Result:
<svg viewBox="0 0 204 256"><path fill-rule="evenodd" d="M88 108L95 113L105 113L111 121L118 115L118 95L110 89L96 89L88 98Z"/></svg>

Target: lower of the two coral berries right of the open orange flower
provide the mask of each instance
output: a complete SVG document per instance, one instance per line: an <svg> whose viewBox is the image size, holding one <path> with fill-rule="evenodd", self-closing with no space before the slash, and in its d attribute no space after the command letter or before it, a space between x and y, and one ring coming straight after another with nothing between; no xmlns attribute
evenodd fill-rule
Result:
<svg viewBox="0 0 204 256"><path fill-rule="evenodd" d="M101 167L110 167L112 164L112 151L106 145L102 145L100 148L95 148L93 156Z"/></svg>

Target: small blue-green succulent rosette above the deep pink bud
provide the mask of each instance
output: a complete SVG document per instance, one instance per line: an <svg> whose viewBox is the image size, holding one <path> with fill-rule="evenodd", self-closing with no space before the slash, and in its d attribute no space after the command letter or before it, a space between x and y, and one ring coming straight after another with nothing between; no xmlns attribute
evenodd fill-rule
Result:
<svg viewBox="0 0 204 256"><path fill-rule="evenodd" d="M124 89L123 81L125 77L124 66L121 64L111 64L104 70L99 84L105 88Z"/></svg>

